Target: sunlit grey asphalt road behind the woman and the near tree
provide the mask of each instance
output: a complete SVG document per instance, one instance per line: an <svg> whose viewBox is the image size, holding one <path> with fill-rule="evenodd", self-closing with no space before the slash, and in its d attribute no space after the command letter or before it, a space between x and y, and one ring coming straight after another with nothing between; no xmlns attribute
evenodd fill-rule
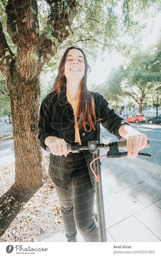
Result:
<svg viewBox="0 0 161 257"><path fill-rule="evenodd" d="M160 124L147 124L140 123L135 124L131 123L131 126L140 131L141 133L145 133L147 137L150 139L150 148L144 148L143 153L150 153L152 158L144 158L137 157L140 159L147 160L149 162L161 165L161 125ZM9 135L12 132L6 132L7 130L12 130L12 124L8 123L0 123L0 137L2 135ZM100 142L102 142L101 138L104 135L108 135L112 140L118 140L113 134L109 133L104 127L101 126L101 135ZM0 140L0 159L5 158L6 160L14 159L13 150L13 139L11 140ZM1 160L0 160L1 162Z"/></svg>

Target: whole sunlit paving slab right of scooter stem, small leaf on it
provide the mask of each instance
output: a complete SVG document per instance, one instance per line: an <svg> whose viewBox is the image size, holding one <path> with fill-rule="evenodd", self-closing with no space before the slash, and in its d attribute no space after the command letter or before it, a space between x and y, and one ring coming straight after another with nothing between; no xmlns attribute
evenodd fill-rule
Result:
<svg viewBox="0 0 161 257"><path fill-rule="evenodd" d="M124 217L139 212L146 206L125 190L106 196L105 199Z"/></svg>

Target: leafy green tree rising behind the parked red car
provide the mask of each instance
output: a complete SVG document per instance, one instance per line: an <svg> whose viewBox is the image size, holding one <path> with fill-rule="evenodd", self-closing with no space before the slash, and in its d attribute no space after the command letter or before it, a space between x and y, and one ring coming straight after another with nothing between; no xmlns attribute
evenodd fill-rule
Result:
<svg viewBox="0 0 161 257"><path fill-rule="evenodd" d="M133 56L126 69L126 79L122 94L134 99L139 106L139 112L142 112L143 104L154 102L159 104L157 94L161 94L159 84L161 82L161 41L151 48L148 53L142 52ZM153 101L154 100L154 101ZM158 105L159 106L159 105Z"/></svg>

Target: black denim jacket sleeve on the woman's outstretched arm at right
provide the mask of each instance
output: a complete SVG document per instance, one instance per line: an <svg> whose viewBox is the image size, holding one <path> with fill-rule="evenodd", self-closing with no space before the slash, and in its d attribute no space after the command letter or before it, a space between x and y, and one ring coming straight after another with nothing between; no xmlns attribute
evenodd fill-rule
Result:
<svg viewBox="0 0 161 257"><path fill-rule="evenodd" d="M123 118L121 118L118 114L116 114L113 108L110 108L108 106L108 101L103 97L102 94L99 95L101 101L101 124L111 134L114 134L118 139L121 139L122 137L118 133L119 128L124 124L127 124L129 126L131 125L128 122L126 122Z"/></svg>

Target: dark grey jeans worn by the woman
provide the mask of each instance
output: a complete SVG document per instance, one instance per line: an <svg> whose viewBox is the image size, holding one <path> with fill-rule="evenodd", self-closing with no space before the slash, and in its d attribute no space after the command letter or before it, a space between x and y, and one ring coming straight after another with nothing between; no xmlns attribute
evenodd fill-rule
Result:
<svg viewBox="0 0 161 257"><path fill-rule="evenodd" d="M93 216L95 191L87 163L83 151L73 154L69 190L59 188L53 182L60 201L66 237L73 239L78 229L85 242L99 242L98 227Z"/></svg>

